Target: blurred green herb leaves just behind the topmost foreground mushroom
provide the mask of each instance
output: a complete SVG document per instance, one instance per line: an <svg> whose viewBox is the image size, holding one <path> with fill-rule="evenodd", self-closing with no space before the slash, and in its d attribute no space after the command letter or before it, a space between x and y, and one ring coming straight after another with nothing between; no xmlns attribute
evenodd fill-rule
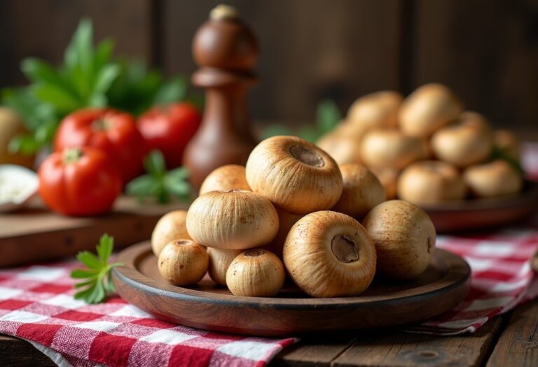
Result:
<svg viewBox="0 0 538 367"><path fill-rule="evenodd" d="M330 99L326 99L317 105L314 125L302 125L295 132L283 124L273 124L263 130L262 138L265 139L275 135L297 135L315 143L323 135L332 131L341 119L342 115L336 103Z"/></svg>

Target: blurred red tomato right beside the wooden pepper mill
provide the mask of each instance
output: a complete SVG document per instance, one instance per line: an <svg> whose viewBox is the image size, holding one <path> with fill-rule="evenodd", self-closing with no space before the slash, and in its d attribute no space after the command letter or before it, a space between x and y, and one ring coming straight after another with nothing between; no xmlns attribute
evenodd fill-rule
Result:
<svg viewBox="0 0 538 367"><path fill-rule="evenodd" d="M181 166L188 141L200 126L202 116L191 103L172 103L148 110L138 120L138 129L150 150L163 152L168 169Z"/></svg>

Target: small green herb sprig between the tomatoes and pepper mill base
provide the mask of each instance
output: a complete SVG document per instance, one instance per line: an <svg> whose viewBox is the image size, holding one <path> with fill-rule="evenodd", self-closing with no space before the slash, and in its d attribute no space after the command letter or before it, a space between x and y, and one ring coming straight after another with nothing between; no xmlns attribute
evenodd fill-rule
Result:
<svg viewBox="0 0 538 367"><path fill-rule="evenodd" d="M127 184L127 194L137 196L139 201L154 197L160 204L170 202L170 196L180 201L191 199L191 185L188 184L188 170L184 167L166 171L165 158L159 150L152 150L144 159L148 174Z"/></svg>

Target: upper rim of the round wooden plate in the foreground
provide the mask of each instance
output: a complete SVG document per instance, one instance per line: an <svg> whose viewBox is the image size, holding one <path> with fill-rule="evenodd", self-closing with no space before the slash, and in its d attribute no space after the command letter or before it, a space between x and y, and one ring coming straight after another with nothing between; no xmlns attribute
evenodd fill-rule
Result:
<svg viewBox="0 0 538 367"><path fill-rule="evenodd" d="M394 298L382 298L378 296L359 296L359 297L341 297L341 298L263 298L263 297L240 297L227 294L212 294L209 292L198 291L195 289L188 289L184 287L177 287L174 285L163 285L151 278L146 277L140 273L137 268L137 261L140 257L144 256L147 252L151 252L151 246L148 241L138 243L127 247L118 254L116 261L123 262L125 266L118 266L112 269L113 282L123 282L128 287L133 289L144 289L146 292L158 294L159 296L165 296L178 301L187 301L193 303L213 303L215 305L242 305L249 308L280 308L286 310L307 310L312 306L318 310L327 310L335 308L365 308L375 307L376 305L382 305L387 300L394 301ZM441 279L436 282L429 283L428 285L422 285L420 288L431 288L432 285L441 286L431 289L427 292L420 294L413 294L410 296L402 296L397 298L398 302L405 303L406 301L416 300L420 298L429 298L436 294L450 292L460 287L467 287L467 283L470 280L471 269L464 259L453 254L451 252L436 249L436 252L443 253L444 257L448 257L446 261L451 261L453 266L450 266L450 271ZM135 261L126 261L132 257L132 254L137 254ZM138 279L135 280L135 279ZM445 285L442 285L446 283ZM118 288L118 287L116 287ZM181 292L178 290L181 289ZM404 292L393 292L393 296ZM385 295L387 297L387 295ZM357 298L360 298L357 300ZM371 299L374 298L374 299ZM378 298L378 299L375 299ZM291 303L290 303L291 300ZM303 300L303 303L298 303L299 300ZM459 301L462 301L459 300ZM312 305L314 303L314 305Z"/></svg>

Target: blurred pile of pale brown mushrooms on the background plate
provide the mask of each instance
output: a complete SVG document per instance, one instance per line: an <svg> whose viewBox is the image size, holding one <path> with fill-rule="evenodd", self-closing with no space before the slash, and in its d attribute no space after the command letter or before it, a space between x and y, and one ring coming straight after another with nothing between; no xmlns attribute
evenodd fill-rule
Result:
<svg viewBox="0 0 538 367"><path fill-rule="evenodd" d="M340 165L364 164L387 199L420 206L520 192L519 144L440 84L406 99L385 91L357 99L344 122L317 145Z"/></svg>

